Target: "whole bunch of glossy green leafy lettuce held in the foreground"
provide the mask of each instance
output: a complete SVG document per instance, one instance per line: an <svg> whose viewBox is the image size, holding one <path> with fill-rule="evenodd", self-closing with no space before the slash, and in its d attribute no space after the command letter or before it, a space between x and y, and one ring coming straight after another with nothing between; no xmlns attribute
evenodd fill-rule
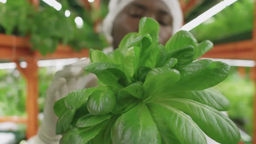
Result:
<svg viewBox="0 0 256 144"><path fill-rule="evenodd" d="M236 125L220 111L229 101L211 89L228 76L230 66L203 59L213 47L179 31L165 46L159 24L142 18L118 49L91 53L85 71L100 86L70 92L54 104L60 144L237 144Z"/></svg>

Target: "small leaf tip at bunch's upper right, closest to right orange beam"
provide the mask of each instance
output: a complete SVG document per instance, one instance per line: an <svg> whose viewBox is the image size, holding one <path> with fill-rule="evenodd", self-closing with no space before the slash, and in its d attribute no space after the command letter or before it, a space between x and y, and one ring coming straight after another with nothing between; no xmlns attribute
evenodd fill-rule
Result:
<svg viewBox="0 0 256 144"><path fill-rule="evenodd" d="M193 57L193 60L196 60L201 56L203 56L203 54L211 50L213 48L213 43L210 42L209 40L205 40L201 43L198 43L197 46L195 46L194 48L195 48L195 55Z"/></svg>

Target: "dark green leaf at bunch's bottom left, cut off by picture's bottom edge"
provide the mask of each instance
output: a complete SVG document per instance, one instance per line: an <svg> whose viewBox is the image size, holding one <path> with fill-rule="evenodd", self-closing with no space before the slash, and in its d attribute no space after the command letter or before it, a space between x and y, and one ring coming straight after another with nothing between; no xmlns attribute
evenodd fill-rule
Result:
<svg viewBox="0 0 256 144"><path fill-rule="evenodd" d="M86 144L103 128L104 123L87 128L74 128L64 134L59 144Z"/></svg>

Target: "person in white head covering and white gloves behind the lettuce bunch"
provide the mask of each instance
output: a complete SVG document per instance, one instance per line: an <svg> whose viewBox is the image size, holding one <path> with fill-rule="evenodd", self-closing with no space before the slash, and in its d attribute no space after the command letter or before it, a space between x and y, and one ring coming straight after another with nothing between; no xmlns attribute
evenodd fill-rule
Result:
<svg viewBox="0 0 256 144"><path fill-rule="evenodd" d="M170 37L181 28L183 15L178 0L110 0L108 15L102 24L102 31L112 47L103 50L111 52L118 48L121 39L128 33L138 32L142 17L151 17L160 24L159 41L165 44ZM83 68L90 60L85 59L67 65L56 72L53 82L47 90L44 118L35 137L28 144L58 144L61 135L55 134L57 117L53 112L53 104L75 89L97 86L94 74L84 76ZM217 144L217 143L208 143Z"/></svg>

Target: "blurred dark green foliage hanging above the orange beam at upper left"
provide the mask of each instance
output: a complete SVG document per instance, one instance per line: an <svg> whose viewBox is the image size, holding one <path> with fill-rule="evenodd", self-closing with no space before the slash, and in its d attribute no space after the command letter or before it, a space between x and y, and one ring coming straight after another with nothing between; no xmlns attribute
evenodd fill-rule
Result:
<svg viewBox="0 0 256 144"><path fill-rule="evenodd" d="M7 3L0 3L2 33L30 35L31 48L39 50L43 55L53 53L59 43L68 44L76 51L84 48L103 49L108 45L104 36L95 33L93 29L94 22L102 16L102 11L99 14L84 11L81 15L74 10L66 17L65 11L71 10L69 3L67 0L59 2L62 4L59 11L48 5L36 9L27 0L7 0ZM82 28L75 24L77 16L83 19Z"/></svg>

